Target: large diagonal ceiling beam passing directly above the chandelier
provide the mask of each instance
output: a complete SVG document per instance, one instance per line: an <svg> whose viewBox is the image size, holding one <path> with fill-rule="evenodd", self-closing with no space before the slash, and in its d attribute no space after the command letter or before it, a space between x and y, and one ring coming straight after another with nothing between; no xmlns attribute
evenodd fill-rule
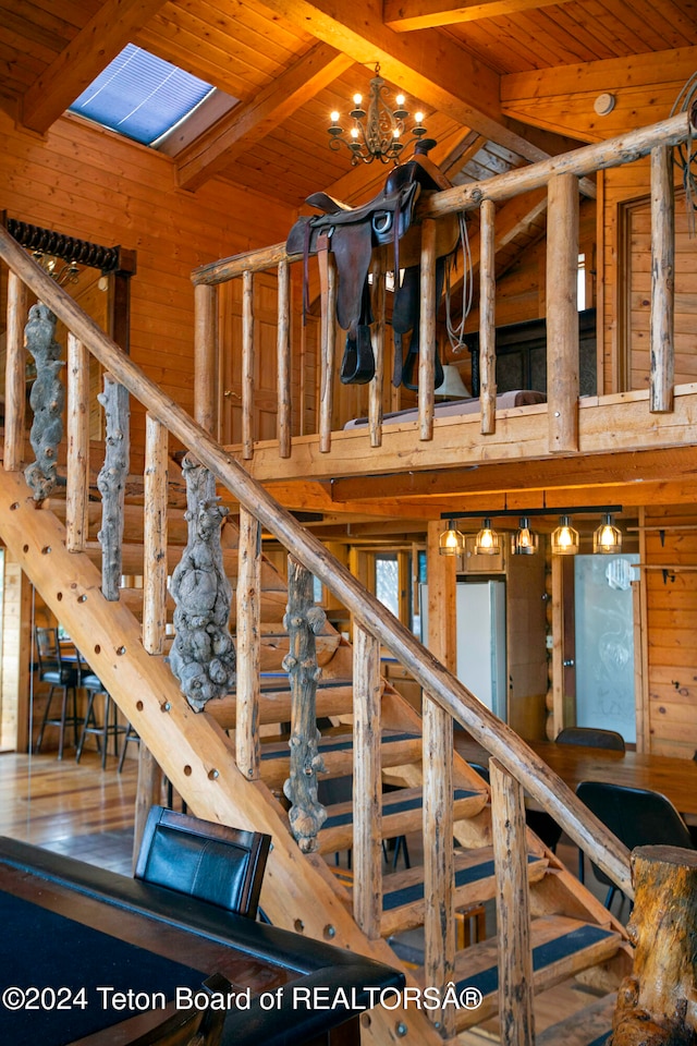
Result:
<svg viewBox="0 0 697 1046"><path fill-rule="evenodd" d="M499 105L499 74L447 34L395 33L375 3L355 0L264 0L264 5L362 65L379 62L386 80L463 126L530 162L548 157L508 127Z"/></svg>

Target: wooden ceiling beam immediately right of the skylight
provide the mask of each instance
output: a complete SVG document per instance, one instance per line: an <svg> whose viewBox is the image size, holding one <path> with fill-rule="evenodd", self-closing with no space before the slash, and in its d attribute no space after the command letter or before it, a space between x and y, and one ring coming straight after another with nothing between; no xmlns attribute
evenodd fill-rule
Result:
<svg viewBox="0 0 697 1046"><path fill-rule="evenodd" d="M252 101L235 106L179 154L180 187L199 188L352 65L348 56L317 44Z"/></svg>

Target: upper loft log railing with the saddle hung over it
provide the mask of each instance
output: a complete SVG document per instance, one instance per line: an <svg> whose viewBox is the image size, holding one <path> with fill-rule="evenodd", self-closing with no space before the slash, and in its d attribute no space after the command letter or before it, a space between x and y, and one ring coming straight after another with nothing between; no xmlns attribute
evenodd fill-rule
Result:
<svg viewBox="0 0 697 1046"><path fill-rule="evenodd" d="M577 269L578 269L578 182L579 179L641 156L651 156L651 243L652 289L650 323L649 410L673 410L674 380L674 203L672 147L683 142L689 133L687 113L681 112L668 120L632 131L622 137L595 145L584 146L573 153L499 174L482 182L455 186L435 193L419 207L423 222L421 247L421 320L419 344L427 346L419 358L418 430L419 440L433 437L433 382L426 380L433 372L433 353L437 343L436 314L430 302L430 275L435 268L435 223L439 218L454 212L480 209L481 265L480 329L479 343L480 381L480 431L482 437L496 433L496 308L493 244L496 235L496 206L512 197L533 190L546 188L548 193L548 247L547 247L547 414L548 452L570 453L579 449L578 430L578 320L577 320ZM376 376L369 384L366 429L369 446L382 446L383 387L387 387L389 352L384 312L384 258L376 252L372 266L375 288L375 316L372 327ZM329 255L331 259L331 255ZM236 450L244 460L255 452L253 400L254 386L254 277L271 271L278 279L278 453L281 459L292 457L292 389L291 389L291 280L289 268L302 256L286 254L284 244L276 244L200 266L193 272L195 285L196 321L196 373L216 374L220 348L216 341L215 316L217 314L217 288L233 279L243 282L243 336L242 336L242 443ZM321 320L319 332L319 381L318 449L329 453L332 446L333 385L337 329L334 324L334 281L330 266L329 279L321 289ZM430 348L429 348L430 346ZM199 417L212 421L217 414L215 389L206 379L198 389ZM297 410L296 416L302 411Z"/></svg>

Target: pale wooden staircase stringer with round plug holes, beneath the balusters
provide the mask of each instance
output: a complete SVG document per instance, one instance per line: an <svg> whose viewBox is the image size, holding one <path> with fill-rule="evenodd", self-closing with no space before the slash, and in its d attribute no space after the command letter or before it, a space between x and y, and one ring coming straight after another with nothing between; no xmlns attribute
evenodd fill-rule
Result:
<svg viewBox="0 0 697 1046"><path fill-rule="evenodd" d="M237 770L234 747L212 717L196 714L164 659L146 653L131 611L102 596L100 573L89 557L69 552L56 515L37 507L21 473L1 469L0 536L77 647L89 653L93 668L192 812L272 836L261 893L271 922L399 965L384 940L369 940L358 929L345 890L325 861L301 853L266 784L247 781ZM408 972L407 981L415 984ZM369 1017L364 1037L376 1046L443 1042L413 1007L377 1007Z"/></svg>

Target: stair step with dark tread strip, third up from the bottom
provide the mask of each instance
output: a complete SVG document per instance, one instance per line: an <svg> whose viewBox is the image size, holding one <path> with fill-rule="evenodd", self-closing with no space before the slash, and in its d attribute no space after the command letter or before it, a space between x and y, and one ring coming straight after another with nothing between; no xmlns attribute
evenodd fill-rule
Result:
<svg viewBox="0 0 697 1046"><path fill-rule="evenodd" d="M469 908L496 896L493 849L455 850L455 909ZM542 878L549 862L528 854L528 881ZM382 880L383 937L421 926L425 917L424 868L407 868Z"/></svg>

